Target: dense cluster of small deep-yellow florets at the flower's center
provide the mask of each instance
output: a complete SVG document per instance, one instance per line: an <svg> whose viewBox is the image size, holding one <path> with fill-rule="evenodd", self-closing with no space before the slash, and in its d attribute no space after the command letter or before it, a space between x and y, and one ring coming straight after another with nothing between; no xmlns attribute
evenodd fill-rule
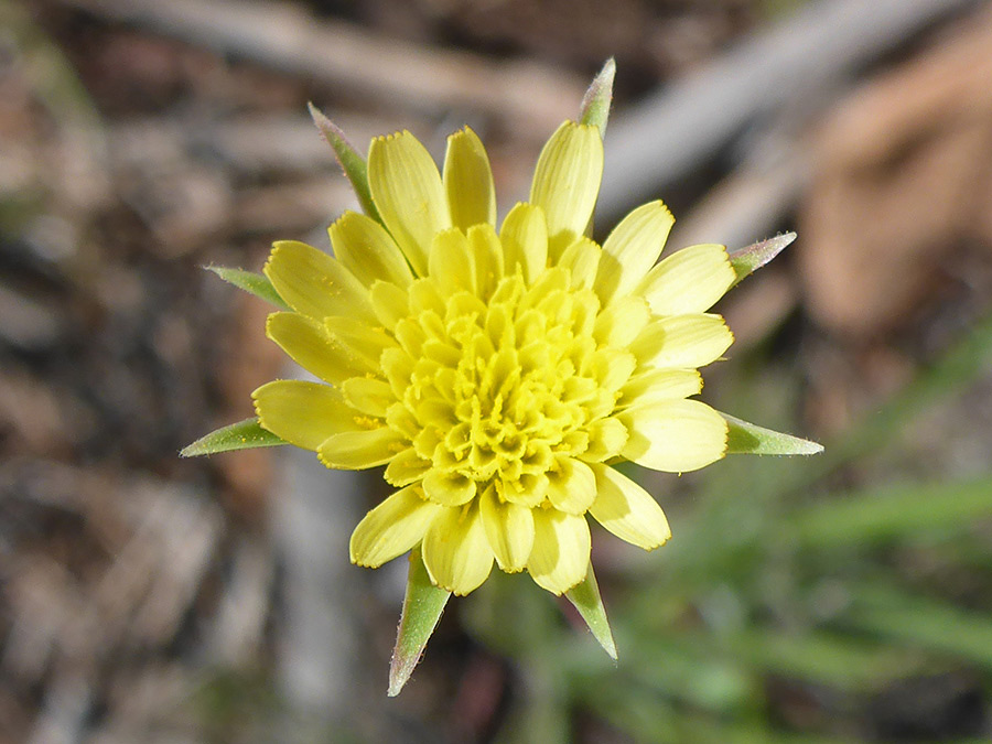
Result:
<svg viewBox="0 0 992 744"><path fill-rule="evenodd" d="M599 299L570 287L565 269L529 288L504 277L485 300L430 277L414 282L395 330L406 354L384 358L405 410L387 418L416 430L428 498L465 503L492 484L504 500L538 506L568 470L562 460L604 460L623 446L626 433L603 420L626 377L604 385L616 377L607 370L625 353L597 343Z"/></svg>

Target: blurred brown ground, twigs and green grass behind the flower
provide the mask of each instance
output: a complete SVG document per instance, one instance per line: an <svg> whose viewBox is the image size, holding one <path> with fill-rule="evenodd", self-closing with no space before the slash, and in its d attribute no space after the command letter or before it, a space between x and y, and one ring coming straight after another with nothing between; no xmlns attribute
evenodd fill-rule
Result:
<svg viewBox="0 0 992 744"><path fill-rule="evenodd" d="M327 247L364 150L486 142L502 212L616 56L597 226L795 229L722 301L704 399L810 460L636 473L594 530L614 665L494 575L398 699L378 474L183 461L292 375L202 267ZM0 0L0 742L992 740L992 7L964 0Z"/></svg>

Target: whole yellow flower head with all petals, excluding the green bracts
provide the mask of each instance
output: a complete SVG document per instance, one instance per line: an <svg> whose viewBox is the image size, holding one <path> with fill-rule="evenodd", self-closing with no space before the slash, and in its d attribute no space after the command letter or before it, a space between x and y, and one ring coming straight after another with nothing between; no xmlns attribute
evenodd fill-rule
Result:
<svg viewBox="0 0 992 744"><path fill-rule="evenodd" d="M455 594L493 563L561 594L586 576L591 516L650 550L665 514L613 464L680 473L726 453L727 421L692 397L733 335L707 311L736 281L725 249L656 265L661 202L602 246L584 233L603 170L594 126L567 121L527 203L497 231L488 158L465 128L443 172L409 132L377 138L368 186L381 219L345 213L334 256L278 242L265 273L291 308L267 332L323 382L255 391L261 427L335 468L386 466L396 492L358 524L352 561L420 547Z"/></svg>

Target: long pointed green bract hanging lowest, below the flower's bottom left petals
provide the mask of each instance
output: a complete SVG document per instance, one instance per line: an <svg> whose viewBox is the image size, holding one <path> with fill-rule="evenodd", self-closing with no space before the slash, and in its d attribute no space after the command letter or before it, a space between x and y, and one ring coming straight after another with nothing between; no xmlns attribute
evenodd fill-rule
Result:
<svg viewBox="0 0 992 744"><path fill-rule="evenodd" d="M396 648L389 662L389 690L395 698L413 673L420 656L438 626L444 605L451 592L438 589L431 583L427 568L420 558L420 548L410 552L410 573L407 578L407 595L403 597L403 613L396 635Z"/></svg>

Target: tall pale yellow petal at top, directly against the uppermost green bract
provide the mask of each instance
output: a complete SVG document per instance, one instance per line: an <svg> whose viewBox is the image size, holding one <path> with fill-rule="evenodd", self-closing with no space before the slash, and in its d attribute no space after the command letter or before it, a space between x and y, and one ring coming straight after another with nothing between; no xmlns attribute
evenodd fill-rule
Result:
<svg viewBox="0 0 992 744"><path fill-rule="evenodd" d="M544 212L552 259L585 231L603 177L603 141L595 127L565 121L538 158L530 203Z"/></svg>

